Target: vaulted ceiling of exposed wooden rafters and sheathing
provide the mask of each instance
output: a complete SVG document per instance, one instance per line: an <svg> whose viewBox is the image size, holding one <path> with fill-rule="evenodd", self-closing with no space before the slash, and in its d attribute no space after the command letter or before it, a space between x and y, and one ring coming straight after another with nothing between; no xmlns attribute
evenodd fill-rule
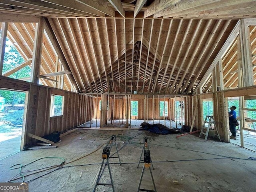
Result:
<svg viewBox="0 0 256 192"><path fill-rule="evenodd" d="M68 64L64 70L74 77L65 79L66 89L76 84L80 92L145 94L192 94L237 19L256 17L256 2L247 0L117 2L6 0L0 1L0 15L46 17ZM27 32L31 39L33 31ZM54 61L56 53L48 57ZM54 72L55 63L45 62L41 74ZM230 72L224 72L227 81Z"/></svg>

